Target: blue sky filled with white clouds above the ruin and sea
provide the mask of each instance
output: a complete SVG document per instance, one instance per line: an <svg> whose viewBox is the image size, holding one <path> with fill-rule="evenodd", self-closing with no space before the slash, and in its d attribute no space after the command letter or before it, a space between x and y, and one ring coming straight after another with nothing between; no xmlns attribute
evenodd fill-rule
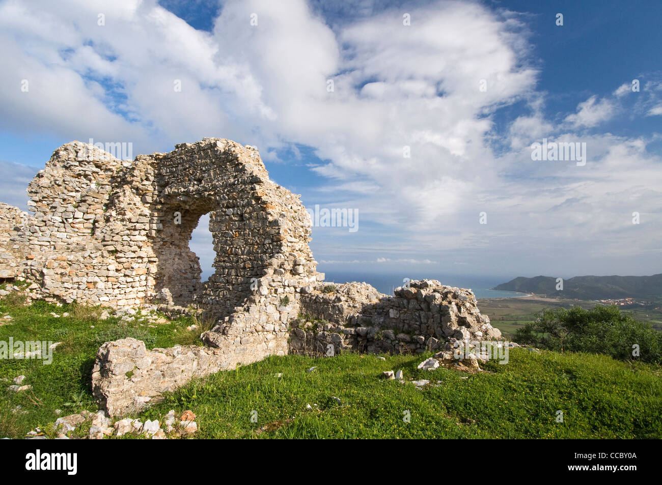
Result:
<svg viewBox="0 0 662 485"><path fill-rule="evenodd" d="M660 273L661 20L636 0L0 0L0 201L26 210L72 140L211 136L356 214L312 228L319 271ZM557 143L575 153L535 154ZM211 267L204 217L191 249Z"/></svg>

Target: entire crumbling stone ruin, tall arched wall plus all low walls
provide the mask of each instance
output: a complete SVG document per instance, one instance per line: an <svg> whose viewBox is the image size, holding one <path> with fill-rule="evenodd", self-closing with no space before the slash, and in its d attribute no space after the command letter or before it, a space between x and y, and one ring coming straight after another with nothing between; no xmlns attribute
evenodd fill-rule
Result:
<svg viewBox="0 0 662 485"><path fill-rule="evenodd" d="M420 281L387 296L365 283L325 283L300 196L270 181L250 146L205 138L123 161L71 142L53 153L28 195L33 215L0 205L0 278L31 281L32 298L196 308L216 322L201 335L207 347L105 343L93 392L111 416L193 376L267 355L422 353L500 339L471 290ZM205 282L189 249L203 214L216 253Z"/></svg>

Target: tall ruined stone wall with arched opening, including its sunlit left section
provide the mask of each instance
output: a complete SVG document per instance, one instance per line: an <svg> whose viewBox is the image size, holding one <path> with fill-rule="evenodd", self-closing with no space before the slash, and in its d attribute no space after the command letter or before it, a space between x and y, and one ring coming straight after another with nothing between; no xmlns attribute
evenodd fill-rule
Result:
<svg viewBox="0 0 662 485"><path fill-rule="evenodd" d="M282 349L301 288L317 278L299 196L269 180L257 150L230 140L205 138L134 161L71 142L28 193L35 218L24 227L34 253L27 271L44 296L195 304L218 321L211 345L227 343L220 335L244 335L232 337L235 345L259 334L255 343L268 352L274 337ZM207 213L215 272L201 283L188 242Z"/></svg>

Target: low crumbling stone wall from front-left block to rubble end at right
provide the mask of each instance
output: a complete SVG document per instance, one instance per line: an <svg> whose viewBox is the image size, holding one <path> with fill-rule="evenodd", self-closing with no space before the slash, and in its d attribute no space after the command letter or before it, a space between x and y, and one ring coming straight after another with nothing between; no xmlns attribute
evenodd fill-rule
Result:
<svg viewBox="0 0 662 485"><path fill-rule="evenodd" d="M409 288L397 288L395 296L381 294L366 283L318 283L299 303L307 315L292 315L289 326L281 322L273 328L274 333L250 326L265 318L252 307L254 312L246 312L244 326L233 322L222 330L227 333L217 330L203 334L215 348L189 345L147 351L144 343L135 339L105 343L93 371L94 394L109 415L118 416L141 409L193 376L234 369L265 355L335 355L348 350L423 353L438 349L464 353L464 347L471 347L472 342L501 337L489 318L481 315L471 290L438 281L412 281Z"/></svg>

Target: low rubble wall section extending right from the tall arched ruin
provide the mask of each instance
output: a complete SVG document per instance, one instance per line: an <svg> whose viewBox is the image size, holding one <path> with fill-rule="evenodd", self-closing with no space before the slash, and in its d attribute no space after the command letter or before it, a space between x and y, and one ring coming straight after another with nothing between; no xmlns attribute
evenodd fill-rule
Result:
<svg viewBox="0 0 662 485"><path fill-rule="evenodd" d="M393 296L366 283L324 283L302 297L301 312L310 320L293 324L290 340L290 350L299 353L325 354L328 345L334 353L423 353L501 338L471 290L435 280L411 281Z"/></svg>

